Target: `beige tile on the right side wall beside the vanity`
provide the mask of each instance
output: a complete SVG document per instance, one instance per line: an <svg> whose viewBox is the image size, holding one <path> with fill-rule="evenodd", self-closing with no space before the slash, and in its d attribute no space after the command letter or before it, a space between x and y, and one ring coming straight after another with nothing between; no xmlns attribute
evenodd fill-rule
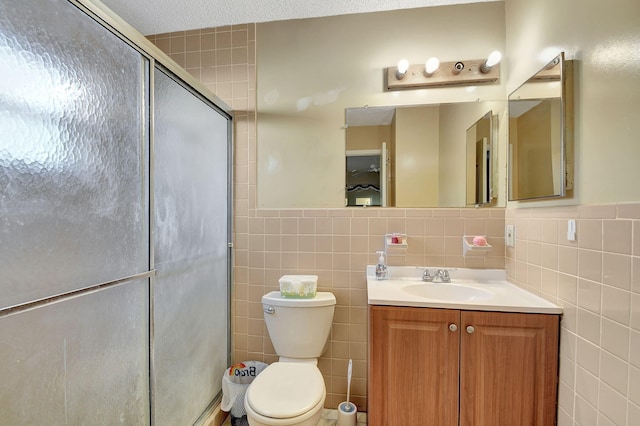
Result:
<svg viewBox="0 0 640 426"><path fill-rule="evenodd" d="M558 424L636 424L640 204L507 209L506 223L516 228L509 281L564 308Z"/></svg>

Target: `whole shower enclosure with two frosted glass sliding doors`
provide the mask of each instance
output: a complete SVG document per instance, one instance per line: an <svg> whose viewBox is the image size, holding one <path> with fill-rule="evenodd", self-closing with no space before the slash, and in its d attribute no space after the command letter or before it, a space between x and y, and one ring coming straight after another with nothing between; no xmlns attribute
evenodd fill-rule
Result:
<svg viewBox="0 0 640 426"><path fill-rule="evenodd" d="M88 1L0 2L0 418L191 425L230 362L230 109Z"/></svg>

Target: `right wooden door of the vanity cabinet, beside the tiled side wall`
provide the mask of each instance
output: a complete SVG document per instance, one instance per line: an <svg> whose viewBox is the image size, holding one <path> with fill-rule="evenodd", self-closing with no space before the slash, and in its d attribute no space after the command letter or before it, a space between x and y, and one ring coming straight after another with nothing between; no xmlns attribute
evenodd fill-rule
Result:
<svg viewBox="0 0 640 426"><path fill-rule="evenodd" d="M555 424L558 321L462 312L460 425Z"/></svg>

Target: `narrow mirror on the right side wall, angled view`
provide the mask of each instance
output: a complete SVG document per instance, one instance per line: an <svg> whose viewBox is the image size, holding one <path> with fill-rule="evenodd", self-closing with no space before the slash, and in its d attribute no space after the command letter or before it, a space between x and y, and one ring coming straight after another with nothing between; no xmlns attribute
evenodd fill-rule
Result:
<svg viewBox="0 0 640 426"><path fill-rule="evenodd" d="M509 95L509 200L572 194L572 74L561 53Z"/></svg>

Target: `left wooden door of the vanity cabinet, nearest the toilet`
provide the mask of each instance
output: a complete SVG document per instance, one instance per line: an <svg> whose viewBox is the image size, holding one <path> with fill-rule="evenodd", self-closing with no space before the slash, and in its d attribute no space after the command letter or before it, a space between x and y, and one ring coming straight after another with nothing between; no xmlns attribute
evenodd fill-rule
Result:
<svg viewBox="0 0 640 426"><path fill-rule="evenodd" d="M460 312L372 306L371 426L457 425Z"/></svg>

